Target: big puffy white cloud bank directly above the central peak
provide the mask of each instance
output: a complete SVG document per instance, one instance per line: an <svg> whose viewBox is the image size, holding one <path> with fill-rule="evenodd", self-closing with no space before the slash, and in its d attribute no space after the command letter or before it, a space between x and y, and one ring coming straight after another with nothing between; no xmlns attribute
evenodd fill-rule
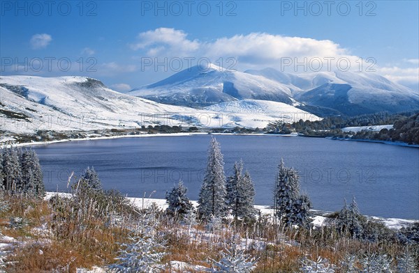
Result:
<svg viewBox="0 0 419 273"><path fill-rule="evenodd" d="M269 33L249 33L200 41L189 40L187 34L181 30L160 28L138 34L137 41L130 47L141 50L142 56L196 59L205 57L221 66L228 64L217 60L235 59L235 69L273 67L282 70L281 60L286 58L292 58L293 63L295 60L295 65L291 66L289 72L293 72L296 63L303 62L304 58L307 58L306 63L313 58L320 58L323 70L328 70L328 58L335 58L329 65L330 70L335 70L336 61L342 57L347 58L352 67L359 61L358 56L351 55L348 49L331 40L286 37Z"/></svg>

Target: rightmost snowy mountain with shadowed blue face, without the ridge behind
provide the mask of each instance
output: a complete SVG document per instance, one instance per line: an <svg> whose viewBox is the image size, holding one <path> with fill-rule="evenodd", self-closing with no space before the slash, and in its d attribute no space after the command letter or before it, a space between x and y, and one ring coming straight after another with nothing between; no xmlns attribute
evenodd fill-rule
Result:
<svg viewBox="0 0 419 273"><path fill-rule="evenodd" d="M419 109L419 93L373 73L335 72L332 81L295 95L295 99L329 107L349 116L378 111L392 113Z"/></svg>

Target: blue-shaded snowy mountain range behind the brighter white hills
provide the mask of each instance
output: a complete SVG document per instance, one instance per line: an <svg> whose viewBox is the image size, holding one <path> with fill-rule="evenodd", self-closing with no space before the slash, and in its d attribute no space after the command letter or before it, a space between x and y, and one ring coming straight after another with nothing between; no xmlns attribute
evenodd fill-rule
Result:
<svg viewBox="0 0 419 273"><path fill-rule="evenodd" d="M196 108L237 100L269 100L319 116L419 109L417 91L372 72L293 75L272 68L238 72L216 65L197 65L129 94Z"/></svg>

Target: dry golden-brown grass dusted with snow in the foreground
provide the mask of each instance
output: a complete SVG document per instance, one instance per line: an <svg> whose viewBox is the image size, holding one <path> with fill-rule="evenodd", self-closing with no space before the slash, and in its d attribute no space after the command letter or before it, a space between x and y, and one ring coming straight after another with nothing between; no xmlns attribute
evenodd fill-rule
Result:
<svg viewBox="0 0 419 273"><path fill-rule="evenodd" d="M55 201L52 205L50 201L31 198L1 198L10 204L10 210L0 213L1 232L20 241L8 257L15 263L8 266L7 272L75 272L80 267L104 267L115 263L119 244L126 242L126 227L138 221L135 212L125 215L122 224L108 224L107 213L96 213L92 206L89 213L78 214L74 210L75 204L66 200ZM221 251L233 240L233 235L249 238L249 243L245 244L246 253L258 258L254 272L298 272L304 257L316 260L321 256L339 265L348 255L385 253L397 257L404 251L404 246L397 242L362 242L340 236L328 228L309 232L265 222L225 223L223 229L214 234L206 232L205 223L202 223L193 226L188 235L188 227L177 219L159 210L154 213L158 217L159 231L165 234L168 254L162 263L167 265L177 260L191 266L211 267L211 259L221 257ZM27 219L29 225L10 228L10 217ZM46 226L50 232L36 233L36 228L41 226ZM175 271L166 267L165 272ZM338 268L336 272L341 271Z"/></svg>

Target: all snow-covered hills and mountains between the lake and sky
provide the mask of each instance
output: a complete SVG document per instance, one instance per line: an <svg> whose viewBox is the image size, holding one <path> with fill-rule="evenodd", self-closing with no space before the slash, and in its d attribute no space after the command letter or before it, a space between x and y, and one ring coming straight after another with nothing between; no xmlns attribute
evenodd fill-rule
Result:
<svg viewBox="0 0 419 273"><path fill-rule="evenodd" d="M195 66L128 94L88 77L0 77L0 132L142 125L263 128L276 120L417 109L418 92L372 73L293 75L272 68L238 72Z"/></svg>

